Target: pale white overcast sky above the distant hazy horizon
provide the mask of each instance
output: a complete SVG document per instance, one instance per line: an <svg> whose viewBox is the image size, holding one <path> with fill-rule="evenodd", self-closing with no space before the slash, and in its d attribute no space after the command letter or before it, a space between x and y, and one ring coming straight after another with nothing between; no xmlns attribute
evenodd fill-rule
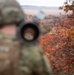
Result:
<svg viewBox="0 0 74 75"><path fill-rule="evenodd" d="M62 6L65 0L17 0L21 5Z"/></svg>

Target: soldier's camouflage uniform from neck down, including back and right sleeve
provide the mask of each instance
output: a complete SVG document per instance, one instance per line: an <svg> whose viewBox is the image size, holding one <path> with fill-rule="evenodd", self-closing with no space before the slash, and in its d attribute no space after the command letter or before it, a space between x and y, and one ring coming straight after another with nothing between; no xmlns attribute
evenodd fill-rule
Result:
<svg viewBox="0 0 74 75"><path fill-rule="evenodd" d="M0 75L52 75L51 66L38 45L22 45L15 36L2 33L1 62Z"/></svg>

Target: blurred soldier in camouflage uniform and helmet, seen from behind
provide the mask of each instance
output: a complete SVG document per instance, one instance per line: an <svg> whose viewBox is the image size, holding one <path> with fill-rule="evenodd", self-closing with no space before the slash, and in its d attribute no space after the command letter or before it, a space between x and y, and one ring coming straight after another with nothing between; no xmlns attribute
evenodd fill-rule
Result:
<svg viewBox="0 0 74 75"><path fill-rule="evenodd" d="M16 29L25 16L16 0L0 0L0 75L52 75L37 44L22 44Z"/></svg>

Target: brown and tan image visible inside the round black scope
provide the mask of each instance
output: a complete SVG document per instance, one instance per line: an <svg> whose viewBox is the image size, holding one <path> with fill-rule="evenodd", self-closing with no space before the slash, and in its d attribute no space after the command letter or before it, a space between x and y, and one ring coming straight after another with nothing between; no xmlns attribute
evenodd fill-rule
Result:
<svg viewBox="0 0 74 75"><path fill-rule="evenodd" d="M33 40L35 37L35 32L34 29L32 28L28 28L24 31L24 38L28 41Z"/></svg>

